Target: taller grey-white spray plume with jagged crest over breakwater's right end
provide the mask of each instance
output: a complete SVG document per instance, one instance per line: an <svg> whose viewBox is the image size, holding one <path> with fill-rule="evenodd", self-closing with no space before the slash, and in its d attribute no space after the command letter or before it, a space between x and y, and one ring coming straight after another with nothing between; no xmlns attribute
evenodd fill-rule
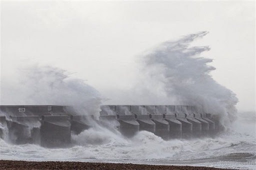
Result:
<svg viewBox="0 0 256 170"><path fill-rule="evenodd" d="M140 73L129 90L112 89L107 104L193 105L197 112L221 116L230 125L236 117L234 92L216 82L212 59L204 57L209 46L192 46L207 31L165 41L138 56Z"/></svg>

